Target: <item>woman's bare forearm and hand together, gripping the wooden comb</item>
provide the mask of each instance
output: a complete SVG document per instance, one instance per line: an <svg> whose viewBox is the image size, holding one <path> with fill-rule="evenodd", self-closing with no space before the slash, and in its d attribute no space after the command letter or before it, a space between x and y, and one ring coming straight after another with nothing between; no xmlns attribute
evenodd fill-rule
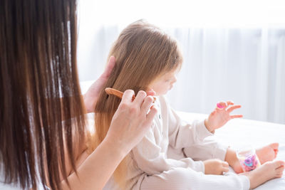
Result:
<svg viewBox="0 0 285 190"><path fill-rule="evenodd" d="M132 100L133 90L125 91L105 139L91 154L83 152L77 157L77 173L68 176L69 185L62 181L62 189L103 189L118 164L150 129L157 110L152 107L155 92L147 94L140 91Z"/></svg>

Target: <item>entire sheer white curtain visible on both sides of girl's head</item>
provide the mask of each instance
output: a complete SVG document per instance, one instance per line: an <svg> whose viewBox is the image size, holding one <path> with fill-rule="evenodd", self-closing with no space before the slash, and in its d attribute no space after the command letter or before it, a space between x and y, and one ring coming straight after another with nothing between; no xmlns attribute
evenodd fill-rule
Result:
<svg viewBox="0 0 285 190"><path fill-rule="evenodd" d="M81 81L95 80L103 72L110 46L127 25L101 23L88 5L85 1L79 22ZM172 107L209 113L219 100L232 100L242 105L234 113L244 118L285 124L284 27L180 24L162 29L177 39L184 56L177 84L167 94Z"/></svg>

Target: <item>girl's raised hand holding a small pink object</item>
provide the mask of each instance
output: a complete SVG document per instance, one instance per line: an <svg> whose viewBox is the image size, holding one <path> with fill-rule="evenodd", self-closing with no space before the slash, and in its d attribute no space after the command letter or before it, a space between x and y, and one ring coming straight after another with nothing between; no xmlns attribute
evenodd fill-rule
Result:
<svg viewBox="0 0 285 190"><path fill-rule="evenodd" d="M240 107L242 106L234 105L231 101L219 102L217 103L216 109L204 121L204 125L209 132L214 132L214 130L219 129L219 127L225 125L229 120L243 117L243 115L230 115L233 110L239 109Z"/></svg>

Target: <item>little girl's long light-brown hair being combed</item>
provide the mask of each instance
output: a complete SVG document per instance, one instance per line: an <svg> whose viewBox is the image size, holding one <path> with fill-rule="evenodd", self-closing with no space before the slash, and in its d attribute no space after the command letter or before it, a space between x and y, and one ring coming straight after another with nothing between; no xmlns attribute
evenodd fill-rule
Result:
<svg viewBox="0 0 285 190"><path fill-rule="evenodd" d="M135 93L147 90L160 75L176 70L182 64L176 41L145 21L136 21L125 28L113 44L109 57L111 55L115 56L116 64L103 89L110 87L123 92L127 89L133 89ZM103 141L120 103L118 97L108 96L103 89L95 105L95 137L89 145L91 150ZM124 162L115 171L118 183L125 177Z"/></svg>

